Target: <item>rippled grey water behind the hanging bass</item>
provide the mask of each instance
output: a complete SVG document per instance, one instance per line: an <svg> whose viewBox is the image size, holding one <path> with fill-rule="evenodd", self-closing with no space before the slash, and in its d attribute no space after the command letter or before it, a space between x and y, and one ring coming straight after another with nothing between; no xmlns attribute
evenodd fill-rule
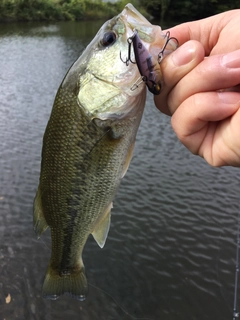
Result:
<svg viewBox="0 0 240 320"><path fill-rule="evenodd" d="M107 243L90 237L84 250L87 300L41 297L50 235L36 239L32 203L42 136L63 76L100 25L0 25L0 319L231 319L239 171L190 154L151 96Z"/></svg>

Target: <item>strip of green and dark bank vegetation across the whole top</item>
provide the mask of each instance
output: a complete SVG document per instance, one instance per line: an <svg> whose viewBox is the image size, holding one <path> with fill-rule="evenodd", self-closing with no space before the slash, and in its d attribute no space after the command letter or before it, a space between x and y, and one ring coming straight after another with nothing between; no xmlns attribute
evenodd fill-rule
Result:
<svg viewBox="0 0 240 320"><path fill-rule="evenodd" d="M0 22L108 19L128 2L147 18L160 21L200 19L239 7L239 0L0 0Z"/></svg>

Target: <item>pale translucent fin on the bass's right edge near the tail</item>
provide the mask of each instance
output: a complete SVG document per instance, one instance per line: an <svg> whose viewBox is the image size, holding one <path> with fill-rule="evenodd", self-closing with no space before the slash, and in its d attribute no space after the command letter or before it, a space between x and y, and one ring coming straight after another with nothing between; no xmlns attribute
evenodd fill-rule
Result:
<svg viewBox="0 0 240 320"><path fill-rule="evenodd" d="M111 209L112 209L112 202L110 203L102 219L99 221L94 231L92 232L92 235L100 248L104 247L107 236L108 236L108 231L109 231L110 222L111 222Z"/></svg>

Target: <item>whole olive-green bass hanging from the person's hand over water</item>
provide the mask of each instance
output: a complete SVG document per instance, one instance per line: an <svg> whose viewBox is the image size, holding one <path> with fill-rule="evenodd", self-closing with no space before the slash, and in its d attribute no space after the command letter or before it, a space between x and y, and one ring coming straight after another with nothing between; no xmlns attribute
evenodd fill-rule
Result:
<svg viewBox="0 0 240 320"><path fill-rule="evenodd" d="M65 294L85 300L84 246L90 234L101 248L107 239L113 199L129 167L146 101L145 84L136 86L138 66L121 59L129 54L135 29L147 50L158 53L156 39L165 43L161 28L128 4L73 63L53 103L33 210L37 237L48 227L51 232L42 286L48 299Z"/></svg>

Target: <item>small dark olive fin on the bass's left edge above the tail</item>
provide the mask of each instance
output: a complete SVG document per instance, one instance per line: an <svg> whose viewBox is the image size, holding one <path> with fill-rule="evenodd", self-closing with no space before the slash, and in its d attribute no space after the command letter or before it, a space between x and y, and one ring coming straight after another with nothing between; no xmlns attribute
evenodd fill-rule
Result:
<svg viewBox="0 0 240 320"><path fill-rule="evenodd" d="M33 228L38 238L47 229L48 224L43 215L41 192L38 187L38 191L34 200L34 213L33 213Z"/></svg>

